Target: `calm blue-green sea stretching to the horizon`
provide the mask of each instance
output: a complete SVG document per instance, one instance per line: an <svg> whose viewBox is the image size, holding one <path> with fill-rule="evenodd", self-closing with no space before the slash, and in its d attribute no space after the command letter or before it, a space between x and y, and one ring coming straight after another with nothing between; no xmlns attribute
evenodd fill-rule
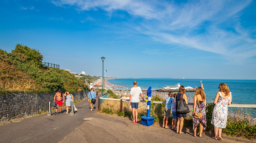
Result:
<svg viewBox="0 0 256 143"><path fill-rule="evenodd" d="M121 86L133 86L133 81L138 82L141 88L161 88L163 86L174 86L180 83L181 86L198 87L203 82L207 103L214 100L218 92L219 84L224 82L232 92L233 103L256 104L256 80L198 80L198 79L113 79L108 82ZM187 93L192 95L193 93Z"/></svg>

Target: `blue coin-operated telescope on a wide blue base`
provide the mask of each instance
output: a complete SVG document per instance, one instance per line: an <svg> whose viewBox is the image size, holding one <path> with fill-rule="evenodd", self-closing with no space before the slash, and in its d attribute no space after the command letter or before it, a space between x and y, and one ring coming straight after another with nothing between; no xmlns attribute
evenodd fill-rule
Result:
<svg viewBox="0 0 256 143"><path fill-rule="evenodd" d="M143 126L151 126L154 124L155 117L150 116L150 104L151 104L151 86L147 90L147 96L145 96L147 102L147 115L141 116Z"/></svg>

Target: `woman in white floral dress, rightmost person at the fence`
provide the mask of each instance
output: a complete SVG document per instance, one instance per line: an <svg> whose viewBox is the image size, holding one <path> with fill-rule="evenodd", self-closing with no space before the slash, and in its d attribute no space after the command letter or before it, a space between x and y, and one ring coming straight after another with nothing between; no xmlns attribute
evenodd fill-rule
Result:
<svg viewBox="0 0 256 143"><path fill-rule="evenodd" d="M225 83L219 85L219 91L214 99L215 107L212 112L211 123L214 125L214 139L223 140L221 137L222 128L227 126L227 105L232 102L232 94ZM219 137L217 138L219 132Z"/></svg>

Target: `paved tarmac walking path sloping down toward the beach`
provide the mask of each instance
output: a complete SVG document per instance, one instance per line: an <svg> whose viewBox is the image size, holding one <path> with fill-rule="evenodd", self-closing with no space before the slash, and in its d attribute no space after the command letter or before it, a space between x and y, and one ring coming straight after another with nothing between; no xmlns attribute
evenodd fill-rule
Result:
<svg viewBox="0 0 256 143"><path fill-rule="evenodd" d="M0 126L0 143L237 143L232 137L216 141L207 135L192 137L191 131L180 135L159 126L142 126L141 121L132 123L128 118L99 114L97 109L89 109L87 100L75 105L78 112L74 115L41 114Z"/></svg>

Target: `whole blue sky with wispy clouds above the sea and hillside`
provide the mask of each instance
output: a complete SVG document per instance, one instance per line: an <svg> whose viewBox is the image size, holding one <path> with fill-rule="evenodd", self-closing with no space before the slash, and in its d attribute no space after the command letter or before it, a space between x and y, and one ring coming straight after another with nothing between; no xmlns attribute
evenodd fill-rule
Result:
<svg viewBox="0 0 256 143"><path fill-rule="evenodd" d="M0 49L112 77L256 80L254 0L1 0Z"/></svg>

